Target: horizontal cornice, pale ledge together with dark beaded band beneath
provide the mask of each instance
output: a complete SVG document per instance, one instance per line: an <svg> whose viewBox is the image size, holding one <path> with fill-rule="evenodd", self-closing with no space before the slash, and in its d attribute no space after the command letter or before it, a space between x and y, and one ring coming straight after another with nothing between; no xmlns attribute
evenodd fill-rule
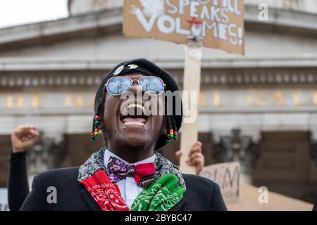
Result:
<svg viewBox="0 0 317 225"><path fill-rule="evenodd" d="M122 60L122 59L121 59ZM151 58L182 84L183 58ZM96 86L119 60L1 59L0 87ZM204 58L207 85L317 84L317 56L292 58Z"/></svg>

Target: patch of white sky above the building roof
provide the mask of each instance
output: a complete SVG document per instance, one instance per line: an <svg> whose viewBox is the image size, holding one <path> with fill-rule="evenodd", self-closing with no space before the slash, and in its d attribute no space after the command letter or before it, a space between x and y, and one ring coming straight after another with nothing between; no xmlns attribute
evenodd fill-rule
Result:
<svg viewBox="0 0 317 225"><path fill-rule="evenodd" d="M0 28L67 16L67 0L0 0Z"/></svg>

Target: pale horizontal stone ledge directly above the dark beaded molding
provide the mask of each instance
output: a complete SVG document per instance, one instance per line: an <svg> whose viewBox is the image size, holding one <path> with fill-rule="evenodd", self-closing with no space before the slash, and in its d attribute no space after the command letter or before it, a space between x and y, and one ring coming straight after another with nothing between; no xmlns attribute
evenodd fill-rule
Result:
<svg viewBox="0 0 317 225"><path fill-rule="evenodd" d="M4 71L58 71L58 70L110 70L124 58L70 59L70 58L0 58L0 72ZM168 69L184 68L184 58L150 58L159 66ZM272 57L204 57L204 69L236 68L317 68L317 55L272 56Z"/></svg>

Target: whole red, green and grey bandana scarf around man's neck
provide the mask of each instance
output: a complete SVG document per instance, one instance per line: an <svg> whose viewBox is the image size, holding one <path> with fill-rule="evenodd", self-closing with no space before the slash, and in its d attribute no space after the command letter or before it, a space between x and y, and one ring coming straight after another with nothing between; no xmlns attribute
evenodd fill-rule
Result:
<svg viewBox="0 0 317 225"><path fill-rule="evenodd" d="M101 148L80 166L77 181L85 186L101 210L129 210L118 186L112 184L105 173L104 150L105 148ZM139 193L132 210L169 210L182 199L182 194L186 190L185 181L178 167L163 158L161 154L155 154L154 182Z"/></svg>

